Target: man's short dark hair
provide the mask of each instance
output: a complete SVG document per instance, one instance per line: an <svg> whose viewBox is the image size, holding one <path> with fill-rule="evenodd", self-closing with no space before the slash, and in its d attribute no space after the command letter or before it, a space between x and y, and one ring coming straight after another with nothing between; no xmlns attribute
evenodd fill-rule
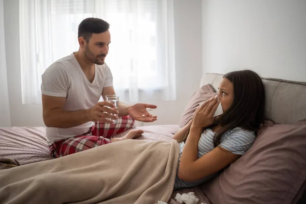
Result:
<svg viewBox="0 0 306 204"><path fill-rule="evenodd" d="M93 33L104 33L109 28L110 24L100 18L85 18L79 25L78 38L83 37L89 42Z"/></svg>

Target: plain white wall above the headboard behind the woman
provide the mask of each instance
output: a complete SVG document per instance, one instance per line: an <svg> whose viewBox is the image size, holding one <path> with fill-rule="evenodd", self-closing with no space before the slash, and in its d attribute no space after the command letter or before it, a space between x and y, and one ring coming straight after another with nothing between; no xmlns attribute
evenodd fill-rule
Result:
<svg viewBox="0 0 306 204"><path fill-rule="evenodd" d="M203 72L306 82L306 1L203 0Z"/></svg>

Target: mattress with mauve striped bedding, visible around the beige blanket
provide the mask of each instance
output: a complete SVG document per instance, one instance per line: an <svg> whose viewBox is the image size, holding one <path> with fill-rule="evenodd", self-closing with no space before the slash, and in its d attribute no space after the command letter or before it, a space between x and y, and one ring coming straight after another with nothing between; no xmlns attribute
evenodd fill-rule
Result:
<svg viewBox="0 0 306 204"><path fill-rule="evenodd" d="M138 126L134 129L144 131L142 136L136 138L137 140L169 141L179 130L179 125ZM116 137L122 137L127 132ZM16 159L21 165L54 159L49 155L45 127L0 127L0 158ZM179 204L174 200L175 195L188 192L195 193L199 198L198 203L211 204L200 187L174 190L168 203Z"/></svg>

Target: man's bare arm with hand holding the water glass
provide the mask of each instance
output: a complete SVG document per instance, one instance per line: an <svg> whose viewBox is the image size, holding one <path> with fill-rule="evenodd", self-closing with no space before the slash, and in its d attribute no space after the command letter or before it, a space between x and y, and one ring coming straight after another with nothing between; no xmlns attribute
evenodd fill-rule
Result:
<svg viewBox="0 0 306 204"><path fill-rule="evenodd" d="M104 117L116 119L115 116L105 113L117 114L117 111L105 107L113 106L111 103L101 102L91 109L66 111L63 109L65 101L65 97L42 94L42 115L43 121L47 127L69 128L89 121L112 123L112 121Z"/></svg>

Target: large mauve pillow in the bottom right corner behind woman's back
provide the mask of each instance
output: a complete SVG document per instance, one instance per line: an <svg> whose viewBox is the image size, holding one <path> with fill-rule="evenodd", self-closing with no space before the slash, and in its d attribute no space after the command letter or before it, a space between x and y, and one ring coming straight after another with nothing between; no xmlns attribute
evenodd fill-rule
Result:
<svg viewBox="0 0 306 204"><path fill-rule="evenodd" d="M291 204L296 199L306 180L306 124L264 129L241 158L202 185L212 203Z"/></svg>

